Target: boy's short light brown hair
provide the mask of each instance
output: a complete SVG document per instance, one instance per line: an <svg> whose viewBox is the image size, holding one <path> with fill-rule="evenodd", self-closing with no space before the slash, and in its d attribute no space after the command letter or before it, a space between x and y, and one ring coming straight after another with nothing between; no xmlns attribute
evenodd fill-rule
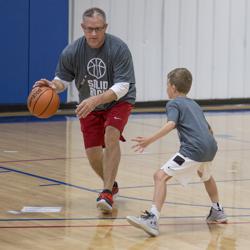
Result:
<svg viewBox="0 0 250 250"><path fill-rule="evenodd" d="M168 82L180 93L187 94L192 85L192 74L186 68L176 68L168 73Z"/></svg>

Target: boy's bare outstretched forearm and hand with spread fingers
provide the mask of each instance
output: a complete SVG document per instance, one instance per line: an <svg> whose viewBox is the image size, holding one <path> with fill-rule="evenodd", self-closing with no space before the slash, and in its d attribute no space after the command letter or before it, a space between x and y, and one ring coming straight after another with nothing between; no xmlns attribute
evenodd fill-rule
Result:
<svg viewBox="0 0 250 250"><path fill-rule="evenodd" d="M173 121L168 121L163 127L161 127L155 134L149 137L138 136L132 141L137 142L132 148L135 149L135 152L142 153L143 150L154 141L160 139L164 135L168 134L171 130L175 128L175 123Z"/></svg>

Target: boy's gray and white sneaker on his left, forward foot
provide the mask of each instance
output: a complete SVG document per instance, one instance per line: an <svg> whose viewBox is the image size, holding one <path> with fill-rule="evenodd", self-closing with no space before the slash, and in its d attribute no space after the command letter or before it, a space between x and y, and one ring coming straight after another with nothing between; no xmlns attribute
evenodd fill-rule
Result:
<svg viewBox="0 0 250 250"><path fill-rule="evenodd" d="M150 236L159 235L159 225L154 214L144 211L140 217L127 216L127 221L134 227L143 229Z"/></svg>

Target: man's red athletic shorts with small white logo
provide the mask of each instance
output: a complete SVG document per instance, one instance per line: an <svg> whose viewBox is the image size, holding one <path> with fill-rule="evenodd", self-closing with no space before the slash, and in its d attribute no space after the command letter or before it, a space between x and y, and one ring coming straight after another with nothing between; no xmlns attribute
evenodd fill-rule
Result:
<svg viewBox="0 0 250 250"><path fill-rule="evenodd" d="M85 148L105 146L104 134L107 126L117 128L121 132L120 140L125 141L122 131L128 122L132 104L121 102L108 110L93 111L87 117L80 118Z"/></svg>

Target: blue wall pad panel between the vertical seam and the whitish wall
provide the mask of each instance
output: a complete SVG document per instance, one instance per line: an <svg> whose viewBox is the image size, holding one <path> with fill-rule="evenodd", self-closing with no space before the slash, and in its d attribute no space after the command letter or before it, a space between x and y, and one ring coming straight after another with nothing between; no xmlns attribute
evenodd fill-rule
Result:
<svg viewBox="0 0 250 250"><path fill-rule="evenodd" d="M67 43L68 0L30 0L29 88L37 79L54 78L58 57ZM66 101L66 91L60 98Z"/></svg>

